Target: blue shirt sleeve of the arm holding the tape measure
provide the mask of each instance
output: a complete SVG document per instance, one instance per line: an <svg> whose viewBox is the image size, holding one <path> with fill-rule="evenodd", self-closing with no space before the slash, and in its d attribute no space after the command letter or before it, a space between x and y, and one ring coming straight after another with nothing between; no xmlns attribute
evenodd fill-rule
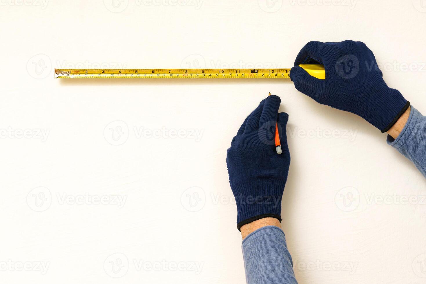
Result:
<svg viewBox="0 0 426 284"><path fill-rule="evenodd" d="M410 116L400 135L388 135L387 143L409 158L426 177L426 117L411 106Z"/></svg>

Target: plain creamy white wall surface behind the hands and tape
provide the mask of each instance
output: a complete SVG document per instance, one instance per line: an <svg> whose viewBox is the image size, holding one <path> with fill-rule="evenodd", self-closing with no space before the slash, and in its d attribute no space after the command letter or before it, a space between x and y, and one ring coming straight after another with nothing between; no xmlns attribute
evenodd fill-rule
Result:
<svg viewBox="0 0 426 284"><path fill-rule="evenodd" d="M425 283L425 180L363 119L290 81L61 81L52 71L285 68L309 40L353 39L426 112L420 0L199 1L0 1L2 282L245 283L226 149L271 91L290 115L282 227L299 283ZM30 271L17 271L25 262Z"/></svg>

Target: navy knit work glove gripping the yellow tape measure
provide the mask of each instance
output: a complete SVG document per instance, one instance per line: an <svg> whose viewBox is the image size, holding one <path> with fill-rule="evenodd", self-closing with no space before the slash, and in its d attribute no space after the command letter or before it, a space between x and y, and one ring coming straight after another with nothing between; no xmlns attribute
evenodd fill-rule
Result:
<svg viewBox="0 0 426 284"><path fill-rule="evenodd" d="M308 75L299 64L324 65L325 80ZM294 65L290 78L296 89L318 103L361 116L382 133L410 106L398 90L386 85L373 52L360 41L311 41Z"/></svg>

